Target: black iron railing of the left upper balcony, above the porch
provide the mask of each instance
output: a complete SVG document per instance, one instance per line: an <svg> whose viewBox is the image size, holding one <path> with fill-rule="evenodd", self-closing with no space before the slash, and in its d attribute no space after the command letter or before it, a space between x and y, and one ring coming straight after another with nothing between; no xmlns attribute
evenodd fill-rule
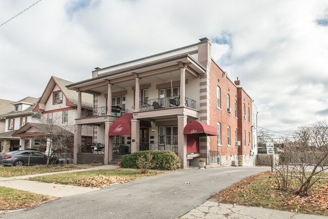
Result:
<svg viewBox="0 0 328 219"><path fill-rule="evenodd" d="M120 106L112 106L112 116L121 117L128 113L128 109ZM81 118L91 118L107 115L107 106L93 107L91 109L82 109Z"/></svg>

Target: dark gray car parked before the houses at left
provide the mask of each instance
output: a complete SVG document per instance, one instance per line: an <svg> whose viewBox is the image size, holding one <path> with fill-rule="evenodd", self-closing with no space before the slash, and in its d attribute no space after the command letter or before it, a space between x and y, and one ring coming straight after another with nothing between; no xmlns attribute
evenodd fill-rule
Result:
<svg viewBox="0 0 328 219"><path fill-rule="evenodd" d="M55 157L54 160L57 160ZM59 162L58 160L56 161ZM4 166L33 166L47 163L47 156L34 150L15 150L0 154L0 164ZM49 163L53 163L51 157Z"/></svg>

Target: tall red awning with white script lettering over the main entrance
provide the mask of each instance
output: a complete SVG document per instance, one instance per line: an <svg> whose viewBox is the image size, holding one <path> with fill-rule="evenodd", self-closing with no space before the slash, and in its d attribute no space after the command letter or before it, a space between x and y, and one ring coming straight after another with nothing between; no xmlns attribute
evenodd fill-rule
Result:
<svg viewBox="0 0 328 219"><path fill-rule="evenodd" d="M131 135L131 119L133 119L133 114L124 114L110 127L108 136Z"/></svg>

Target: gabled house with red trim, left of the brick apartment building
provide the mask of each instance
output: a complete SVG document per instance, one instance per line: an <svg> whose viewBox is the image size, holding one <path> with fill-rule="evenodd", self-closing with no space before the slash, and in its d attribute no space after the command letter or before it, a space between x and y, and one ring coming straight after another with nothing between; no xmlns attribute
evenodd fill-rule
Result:
<svg viewBox="0 0 328 219"><path fill-rule="evenodd" d="M76 91L68 90L66 85L73 82L51 76L48 84L46 85L41 97L39 98L36 106L33 109L34 113L41 115L40 122L43 126L28 124L28 126L22 127L15 133L14 136L25 139L33 139L35 135L41 134L46 131L42 127L46 127L46 124L53 124L67 131L73 135L75 119L77 116L77 102L78 93ZM93 106L93 96L91 94L83 94L83 101L81 107L83 109L89 109ZM54 126L54 127L56 127ZM93 127L82 127L82 139L85 142L92 142ZM49 142L50 139L48 139ZM48 143L49 144L49 143ZM41 152L47 152L47 147L41 146L37 141L31 148L38 149Z"/></svg>

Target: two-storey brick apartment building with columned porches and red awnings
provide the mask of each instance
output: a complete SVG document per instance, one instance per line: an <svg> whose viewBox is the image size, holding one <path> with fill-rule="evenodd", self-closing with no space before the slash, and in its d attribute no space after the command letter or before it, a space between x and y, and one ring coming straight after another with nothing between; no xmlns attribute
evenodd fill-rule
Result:
<svg viewBox="0 0 328 219"><path fill-rule="evenodd" d="M93 125L102 159L139 150L172 150L182 168L253 165L252 99L211 58L211 44L200 42L106 68L67 85L77 91L74 162L91 160L81 152L81 129ZM83 110L83 94L94 95ZM108 110L107 110L108 109ZM97 154L98 158L100 154Z"/></svg>

